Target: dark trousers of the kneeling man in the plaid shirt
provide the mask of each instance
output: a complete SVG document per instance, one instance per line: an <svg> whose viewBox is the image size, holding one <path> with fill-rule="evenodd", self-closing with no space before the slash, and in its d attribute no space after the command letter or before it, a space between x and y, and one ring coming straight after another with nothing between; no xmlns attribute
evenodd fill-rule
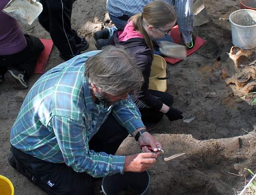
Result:
<svg viewBox="0 0 256 195"><path fill-rule="evenodd" d="M126 129L110 114L90 140L89 148L115 154L127 135ZM10 165L48 194L94 194L92 177L86 172L75 172L65 163L37 159L13 146L11 153L8 159Z"/></svg>

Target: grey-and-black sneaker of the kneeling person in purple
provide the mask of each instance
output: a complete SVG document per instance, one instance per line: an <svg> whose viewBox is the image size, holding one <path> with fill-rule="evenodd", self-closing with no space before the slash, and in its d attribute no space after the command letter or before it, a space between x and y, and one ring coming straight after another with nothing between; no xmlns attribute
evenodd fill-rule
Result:
<svg viewBox="0 0 256 195"><path fill-rule="evenodd" d="M25 81L25 75L23 71L18 71L15 69L8 70L7 78L12 82L15 90L22 90L28 88L28 84Z"/></svg>

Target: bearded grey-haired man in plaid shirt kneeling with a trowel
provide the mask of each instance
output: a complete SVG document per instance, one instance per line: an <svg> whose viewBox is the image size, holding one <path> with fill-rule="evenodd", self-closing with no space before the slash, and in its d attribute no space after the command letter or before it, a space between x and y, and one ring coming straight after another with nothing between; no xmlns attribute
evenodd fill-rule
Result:
<svg viewBox="0 0 256 195"><path fill-rule="evenodd" d="M140 145L161 144L145 130L130 93L143 76L122 48L109 46L59 64L27 94L11 128L9 163L48 194L94 194L92 177L140 172L159 154L115 155L130 133Z"/></svg>

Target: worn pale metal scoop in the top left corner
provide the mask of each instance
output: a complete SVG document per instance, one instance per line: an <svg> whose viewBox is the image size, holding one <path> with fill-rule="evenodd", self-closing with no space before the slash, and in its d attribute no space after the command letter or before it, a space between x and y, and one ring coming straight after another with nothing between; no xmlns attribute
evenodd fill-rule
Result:
<svg viewBox="0 0 256 195"><path fill-rule="evenodd" d="M42 5L36 0L11 0L3 12L14 19L31 25L42 12Z"/></svg>

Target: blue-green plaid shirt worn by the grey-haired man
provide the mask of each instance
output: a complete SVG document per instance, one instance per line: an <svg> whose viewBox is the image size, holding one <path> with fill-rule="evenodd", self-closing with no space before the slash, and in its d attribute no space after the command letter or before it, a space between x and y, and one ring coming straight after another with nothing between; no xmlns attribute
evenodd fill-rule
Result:
<svg viewBox="0 0 256 195"><path fill-rule="evenodd" d="M78 55L42 75L27 94L11 129L11 144L41 160L66 163L93 177L123 172L124 156L95 153L88 143L110 113L129 133L144 127L129 98L111 107L92 100L84 62Z"/></svg>

